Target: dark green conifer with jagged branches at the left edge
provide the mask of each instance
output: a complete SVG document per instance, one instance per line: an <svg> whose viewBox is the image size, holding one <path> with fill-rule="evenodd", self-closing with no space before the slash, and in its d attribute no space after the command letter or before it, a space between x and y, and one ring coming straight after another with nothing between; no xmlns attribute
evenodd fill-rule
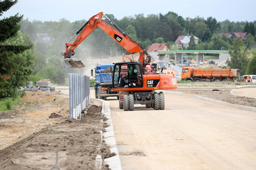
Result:
<svg viewBox="0 0 256 170"><path fill-rule="evenodd" d="M0 1L0 16L17 2L17 0ZM19 86L15 86L15 83L11 82L10 79L14 75L14 70L17 70L17 67L23 67L17 63L19 58L16 55L31 48L31 46L26 45L7 45L5 43L6 40L17 35L17 32L20 30L18 22L20 22L22 17L23 15L19 16L19 13L17 13L15 16L0 20L0 98L14 97L10 94L10 90L18 89ZM27 64L25 65L27 66ZM31 72L31 70L28 70L28 72Z"/></svg>

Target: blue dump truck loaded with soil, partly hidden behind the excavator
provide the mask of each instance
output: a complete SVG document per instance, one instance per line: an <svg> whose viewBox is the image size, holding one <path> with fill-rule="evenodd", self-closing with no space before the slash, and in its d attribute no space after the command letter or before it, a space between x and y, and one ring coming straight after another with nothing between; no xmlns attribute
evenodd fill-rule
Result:
<svg viewBox="0 0 256 170"><path fill-rule="evenodd" d="M118 99L118 92L113 91L112 76L114 64L98 64L95 66L95 74L91 69L91 76L95 77L95 98L106 100L107 97L116 96Z"/></svg>

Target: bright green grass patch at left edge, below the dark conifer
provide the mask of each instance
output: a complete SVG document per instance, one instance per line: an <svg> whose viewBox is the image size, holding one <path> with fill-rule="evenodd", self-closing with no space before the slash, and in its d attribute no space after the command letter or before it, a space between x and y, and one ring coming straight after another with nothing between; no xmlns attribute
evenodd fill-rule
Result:
<svg viewBox="0 0 256 170"><path fill-rule="evenodd" d="M0 111L13 110L21 102L20 98L4 98L0 100Z"/></svg>

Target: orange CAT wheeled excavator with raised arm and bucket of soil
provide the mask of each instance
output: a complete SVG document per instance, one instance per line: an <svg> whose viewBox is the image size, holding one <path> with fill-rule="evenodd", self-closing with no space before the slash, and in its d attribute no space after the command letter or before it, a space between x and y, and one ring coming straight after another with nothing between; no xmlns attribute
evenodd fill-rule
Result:
<svg viewBox="0 0 256 170"><path fill-rule="evenodd" d="M66 52L61 54L67 59L65 60L67 67L71 65L72 68L71 63L81 62L72 59L75 54L74 49L99 27L132 54L132 57L134 53L139 53L137 61L133 57L129 62L114 64L112 84L113 91L119 93L119 108L124 111L134 110L134 104L142 104L146 105L146 108L164 110L164 94L159 90L177 89L176 76L172 72L167 74L162 71L160 73L145 72L151 56L142 45L133 41L113 21L108 19L114 28L104 22L103 16L108 19L103 12L92 16L69 40L70 42L77 35L75 41L72 44L66 43Z"/></svg>

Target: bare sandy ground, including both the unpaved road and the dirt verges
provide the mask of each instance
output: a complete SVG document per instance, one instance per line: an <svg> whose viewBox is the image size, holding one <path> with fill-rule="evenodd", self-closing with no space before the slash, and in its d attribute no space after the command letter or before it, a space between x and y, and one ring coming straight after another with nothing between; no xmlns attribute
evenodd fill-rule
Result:
<svg viewBox="0 0 256 170"><path fill-rule="evenodd" d="M248 84L178 84L240 85ZM234 96L230 91L181 92L256 107L255 98ZM242 88L233 93L254 95L255 91L255 88ZM94 90L90 93L94 98ZM124 112L118 108L116 98L107 101L124 170L256 167L256 118L252 111L169 94L165 94L165 110L157 111L135 105L134 111ZM103 123L106 118L100 113L101 105L93 101L92 110L78 122L68 119L68 95L28 93L21 106L0 113L0 169L50 169L55 166L56 151L60 169L99 169L97 155L102 155L103 160L113 156L99 133L107 126ZM101 166L108 169L107 165Z"/></svg>

